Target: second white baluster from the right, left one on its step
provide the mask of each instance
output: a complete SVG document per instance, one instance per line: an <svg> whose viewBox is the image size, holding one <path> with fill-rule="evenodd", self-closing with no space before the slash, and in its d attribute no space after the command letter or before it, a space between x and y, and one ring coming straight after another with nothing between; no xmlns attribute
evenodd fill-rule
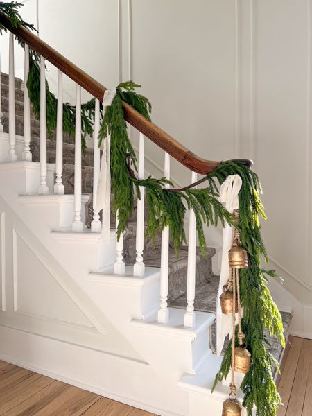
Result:
<svg viewBox="0 0 312 416"><path fill-rule="evenodd" d="M170 179L170 156L165 153L164 176ZM169 185L166 184L165 188ZM168 276L169 276L169 227L162 230L162 251L160 259L160 305L158 310L158 322L166 324L169 320L168 309Z"/></svg>

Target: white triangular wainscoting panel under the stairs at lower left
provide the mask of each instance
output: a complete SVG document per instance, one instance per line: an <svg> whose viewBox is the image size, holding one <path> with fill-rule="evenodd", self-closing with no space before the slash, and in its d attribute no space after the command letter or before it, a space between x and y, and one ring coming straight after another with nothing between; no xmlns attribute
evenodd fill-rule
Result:
<svg viewBox="0 0 312 416"><path fill-rule="evenodd" d="M37 256L6 209L0 209L0 242L0 325L105 350L106 336L60 286L49 261Z"/></svg>

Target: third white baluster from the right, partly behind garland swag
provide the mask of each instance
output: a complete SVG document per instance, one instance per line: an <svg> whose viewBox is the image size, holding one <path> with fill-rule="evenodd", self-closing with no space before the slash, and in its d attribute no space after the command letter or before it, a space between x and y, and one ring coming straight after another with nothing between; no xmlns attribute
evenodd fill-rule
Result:
<svg viewBox="0 0 312 416"><path fill-rule="evenodd" d="M138 164L139 180L144 179L144 135L140 133L139 138L139 164ZM144 187L139 187L141 198L137 199L137 238L135 241L135 249L137 257L133 268L134 276L144 276L145 265L143 262L144 250Z"/></svg>

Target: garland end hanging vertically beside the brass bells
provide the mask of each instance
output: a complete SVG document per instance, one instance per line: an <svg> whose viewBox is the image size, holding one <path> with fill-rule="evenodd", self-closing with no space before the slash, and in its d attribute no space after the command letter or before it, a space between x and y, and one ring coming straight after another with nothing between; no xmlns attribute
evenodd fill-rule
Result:
<svg viewBox="0 0 312 416"><path fill-rule="evenodd" d="M248 415L252 415L252 408L257 408L257 416L275 416L277 407L281 403L276 385L272 376L272 368L277 367L275 359L266 350L268 341L265 329L275 338L279 338L281 345L285 345L281 315L272 301L266 283L265 275L276 277L273 270L261 269L261 258L267 259L266 249L263 245L260 232L259 217L266 218L259 194L261 185L256 173L241 164L225 162L210 177L222 183L227 175L238 174L243 180L239 193L239 230L241 242L248 251L250 267L240 271L241 304L244 309L243 331L245 342L252 354L250 371L245 375L241 389L244 393L243 406ZM236 345L238 340L236 338ZM216 384L227 376L232 358L231 343L220 371L216 375Z"/></svg>

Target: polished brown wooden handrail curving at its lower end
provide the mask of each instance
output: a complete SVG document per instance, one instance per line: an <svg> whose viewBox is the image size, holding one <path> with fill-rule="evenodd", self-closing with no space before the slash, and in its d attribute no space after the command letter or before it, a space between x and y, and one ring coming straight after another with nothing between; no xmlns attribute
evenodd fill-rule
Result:
<svg viewBox="0 0 312 416"><path fill-rule="evenodd" d="M89 76L85 71L78 68L75 64L70 62L63 55L51 48L46 42L37 37L31 31L23 26L15 28L8 17L0 13L0 23L6 27L10 32L14 33L19 39L28 44L33 51L42 55L46 60L51 62L55 67L60 69L69 78L78 83L87 92L92 94L98 100L103 101L104 92L107 88L101 83L98 83L94 78ZM169 155L177 159L178 162L191 169L191 171L207 175L220 165L221 162L213 162L211 160L202 159L194 155L188 148L182 146L178 141L173 139L164 130L159 128L154 123L146 120L139 112L132 108L127 103L123 102L123 110L125 112L125 119L137 128L139 132L148 137L157 146L165 150ZM248 159L239 159L240 162L245 163L246 166L252 166L252 161Z"/></svg>

